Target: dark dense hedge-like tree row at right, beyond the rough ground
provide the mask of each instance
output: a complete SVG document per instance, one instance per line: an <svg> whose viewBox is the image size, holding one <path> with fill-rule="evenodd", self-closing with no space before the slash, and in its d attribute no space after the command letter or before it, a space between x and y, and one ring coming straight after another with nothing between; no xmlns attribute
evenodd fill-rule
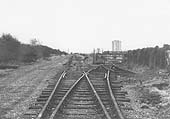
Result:
<svg viewBox="0 0 170 119"><path fill-rule="evenodd" d="M170 49L170 45L165 44L159 48L150 47L136 50L129 50L126 54L128 64L139 64L148 66L152 69L155 68L166 68L166 51Z"/></svg>

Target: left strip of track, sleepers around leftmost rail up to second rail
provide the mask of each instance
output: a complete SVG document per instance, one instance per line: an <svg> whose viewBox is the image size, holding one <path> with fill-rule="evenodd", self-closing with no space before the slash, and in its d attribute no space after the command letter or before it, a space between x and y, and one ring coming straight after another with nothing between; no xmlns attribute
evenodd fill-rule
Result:
<svg viewBox="0 0 170 119"><path fill-rule="evenodd" d="M68 76L69 75L69 76ZM59 79L56 78L49 83L47 88L42 91L35 104L29 107L29 111L24 114L24 119L48 119L55 107L62 100L66 92L76 81L74 73L63 71ZM77 76L78 77L78 76Z"/></svg>

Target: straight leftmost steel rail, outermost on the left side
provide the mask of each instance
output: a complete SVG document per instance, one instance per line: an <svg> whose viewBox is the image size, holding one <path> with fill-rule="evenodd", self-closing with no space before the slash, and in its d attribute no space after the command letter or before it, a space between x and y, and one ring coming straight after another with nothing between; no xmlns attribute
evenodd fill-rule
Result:
<svg viewBox="0 0 170 119"><path fill-rule="evenodd" d="M38 117L37 117L36 119L41 119L41 117L42 117L42 115L43 115L45 109L47 108L49 102L51 101L51 98L52 98L52 96L53 96L53 94L54 94L56 88L57 88L58 85L60 84L61 80L64 78L65 74L66 74L65 71L61 74L61 76L60 76L59 80L57 81L57 83L56 83L56 85L55 85L55 87L54 87L52 93L50 94L50 97L48 98L47 102L45 103L43 109L42 109L41 112L38 114Z"/></svg>

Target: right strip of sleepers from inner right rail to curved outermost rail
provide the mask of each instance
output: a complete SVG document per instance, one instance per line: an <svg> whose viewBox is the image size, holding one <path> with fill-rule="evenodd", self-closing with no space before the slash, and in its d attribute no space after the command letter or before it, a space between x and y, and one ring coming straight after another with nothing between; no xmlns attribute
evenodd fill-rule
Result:
<svg viewBox="0 0 170 119"><path fill-rule="evenodd" d="M120 88L122 86L120 85L120 82L117 82L117 84L113 84L114 81L110 82L109 75L110 71L107 68L100 66L95 70L92 70L91 73L88 73L86 77L91 81L98 93L106 111L109 114L109 118L124 119L117 101L122 102L125 97L120 97L120 94L115 94L117 96L115 98L115 95L113 95L113 90L115 91L116 89L119 93L121 93ZM118 100L118 96L120 100Z"/></svg>

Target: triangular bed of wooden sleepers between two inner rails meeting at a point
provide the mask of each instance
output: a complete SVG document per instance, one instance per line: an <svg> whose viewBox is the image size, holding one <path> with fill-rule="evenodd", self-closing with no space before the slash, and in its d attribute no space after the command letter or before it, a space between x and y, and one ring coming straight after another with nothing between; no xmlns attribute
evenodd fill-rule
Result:
<svg viewBox="0 0 170 119"><path fill-rule="evenodd" d="M70 88L50 119L108 119L98 94L82 75Z"/></svg>

